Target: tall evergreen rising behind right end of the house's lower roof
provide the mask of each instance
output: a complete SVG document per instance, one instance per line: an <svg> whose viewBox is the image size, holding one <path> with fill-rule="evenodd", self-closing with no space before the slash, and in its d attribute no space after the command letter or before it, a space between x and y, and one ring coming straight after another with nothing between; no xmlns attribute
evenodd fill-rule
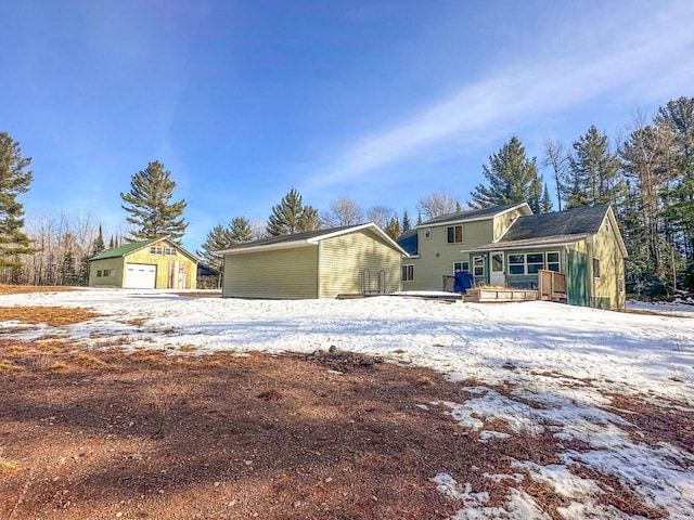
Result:
<svg viewBox="0 0 694 520"><path fill-rule="evenodd" d="M573 146L568 160L567 207L619 204L625 186L619 174L619 158L611 150L607 135L591 126Z"/></svg>

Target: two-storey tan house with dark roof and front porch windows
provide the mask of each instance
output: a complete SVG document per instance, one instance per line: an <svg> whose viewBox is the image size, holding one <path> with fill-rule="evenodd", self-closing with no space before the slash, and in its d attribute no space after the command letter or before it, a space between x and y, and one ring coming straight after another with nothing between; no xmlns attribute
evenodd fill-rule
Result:
<svg viewBox="0 0 694 520"><path fill-rule="evenodd" d="M403 290L441 290L464 271L474 285L537 288L541 272L565 275L566 300L624 309L627 250L609 206L532 214L525 203L429 220L398 243Z"/></svg>

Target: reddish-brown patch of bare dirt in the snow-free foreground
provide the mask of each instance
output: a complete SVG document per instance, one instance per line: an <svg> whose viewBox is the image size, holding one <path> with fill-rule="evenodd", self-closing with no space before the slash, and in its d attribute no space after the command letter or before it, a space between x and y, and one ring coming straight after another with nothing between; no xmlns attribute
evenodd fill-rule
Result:
<svg viewBox="0 0 694 520"><path fill-rule="evenodd" d="M0 341L1 363L16 367L0 369L3 520L442 519L462 505L439 472L490 506L523 487L558 519L566 499L547 485L484 473L583 447L501 420L485 428L512 437L479 442L430 405L474 395L462 385L346 352L125 355L61 337Z"/></svg>

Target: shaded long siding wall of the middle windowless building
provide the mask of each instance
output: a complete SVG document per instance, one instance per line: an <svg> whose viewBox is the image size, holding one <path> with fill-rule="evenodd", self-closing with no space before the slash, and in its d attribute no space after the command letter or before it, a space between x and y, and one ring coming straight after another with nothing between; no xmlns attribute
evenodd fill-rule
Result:
<svg viewBox="0 0 694 520"><path fill-rule="evenodd" d="M224 255L223 297L317 298L318 247Z"/></svg>

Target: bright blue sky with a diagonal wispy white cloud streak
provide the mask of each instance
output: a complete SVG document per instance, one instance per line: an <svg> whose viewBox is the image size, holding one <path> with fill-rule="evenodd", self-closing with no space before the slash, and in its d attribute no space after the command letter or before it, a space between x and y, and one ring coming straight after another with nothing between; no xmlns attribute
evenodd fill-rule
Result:
<svg viewBox="0 0 694 520"><path fill-rule="evenodd" d="M184 246L296 187L415 214L530 156L694 95L694 2L1 0L0 131L34 158L27 218L123 225L159 160Z"/></svg>

